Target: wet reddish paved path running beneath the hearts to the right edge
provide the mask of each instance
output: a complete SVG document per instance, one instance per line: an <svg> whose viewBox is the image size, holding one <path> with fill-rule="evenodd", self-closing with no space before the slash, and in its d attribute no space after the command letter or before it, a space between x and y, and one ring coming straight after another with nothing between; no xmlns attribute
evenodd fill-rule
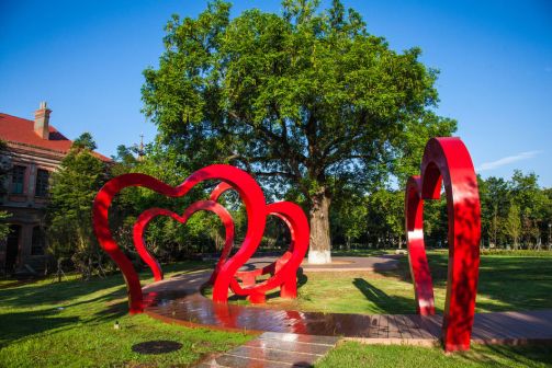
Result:
<svg viewBox="0 0 552 368"><path fill-rule="evenodd" d="M211 272L185 273L144 288L145 312L183 325L251 333L278 332L360 338L378 344L437 344L441 315L320 313L213 303L200 292ZM552 311L477 313L472 342L552 342Z"/></svg>

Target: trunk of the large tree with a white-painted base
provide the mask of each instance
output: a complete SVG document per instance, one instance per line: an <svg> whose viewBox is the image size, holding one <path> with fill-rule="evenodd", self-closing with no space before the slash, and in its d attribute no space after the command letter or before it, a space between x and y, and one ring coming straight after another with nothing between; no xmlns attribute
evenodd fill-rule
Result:
<svg viewBox="0 0 552 368"><path fill-rule="evenodd" d="M331 198L322 189L314 195L309 212L311 248L308 250L309 264L331 263L329 238L329 204Z"/></svg>

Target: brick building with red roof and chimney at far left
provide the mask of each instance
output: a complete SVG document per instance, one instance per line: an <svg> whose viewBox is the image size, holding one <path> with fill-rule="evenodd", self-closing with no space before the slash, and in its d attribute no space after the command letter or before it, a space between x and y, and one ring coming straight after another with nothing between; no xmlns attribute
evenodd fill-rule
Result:
<svg viewBox="0 0 552 368"><path fill-rule="evenodd" d="M44 268L44 208L48 180L72 141L49 125L52 111L41 103L35 119L0 113L0 210L11 214L10 234L0 242L0 274ZM97 153L104 161L111 161Z"/></svg>

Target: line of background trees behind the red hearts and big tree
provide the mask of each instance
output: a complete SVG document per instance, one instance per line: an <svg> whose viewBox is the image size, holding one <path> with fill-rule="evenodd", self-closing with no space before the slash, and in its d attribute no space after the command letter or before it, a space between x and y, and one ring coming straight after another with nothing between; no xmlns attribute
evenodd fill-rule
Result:
<svg viewBox="0 0 552 368"><path fill-rule="evenodd" d="M119 147L112 163L93 154L95 143L89 134L78 138L59 170L53 174L47 207L48 250L66 266L89 277L112 265L92 232L91 207L95 193L111 177L139 172L171 184L180 184L192 171L181 171L179 156L157 143L137 148ZM139 153L139 154L138 154ZM132 239L134 223L151 207L182 212L193 202L205 198L216 183L206 183L184 198L167 198L151 191L131 187L117 196L110 222L120 246L140 265ZM534 173L516 170L509 180L478 177L482 208L482 240L485 249L550 250L552 188L541 188ZM266 193L270 193L266 188ZM288 194L289 195L289 194ZM223 197L236 222L236 245L246 232L245 208L236 193ZM304 208L306 202L300 202ZM404 191L380 187L371 192L342 193L329 212L333 250L397 249L405 246ZM447 248L447 203L426 200L425 238L428 248ZM216 253L224 244L224 227L210 212L198 212L185 226L159 217L145 233L146 244L161 262L172 262ZM290 243L285 226L269 219L261 251L282 251Z"/></svg>

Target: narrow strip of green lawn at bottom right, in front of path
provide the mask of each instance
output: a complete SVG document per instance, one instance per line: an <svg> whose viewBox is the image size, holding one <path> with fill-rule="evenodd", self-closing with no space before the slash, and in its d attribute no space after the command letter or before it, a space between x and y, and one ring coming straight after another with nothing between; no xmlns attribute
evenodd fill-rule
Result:
<svg viewBox="0 0 552 368"><path fill-rule="evenodd" d="M470 352L444 354L440 347L339 344L316 368L325 367L550 367L552 349L544 345L472 345Z"/></svg>

